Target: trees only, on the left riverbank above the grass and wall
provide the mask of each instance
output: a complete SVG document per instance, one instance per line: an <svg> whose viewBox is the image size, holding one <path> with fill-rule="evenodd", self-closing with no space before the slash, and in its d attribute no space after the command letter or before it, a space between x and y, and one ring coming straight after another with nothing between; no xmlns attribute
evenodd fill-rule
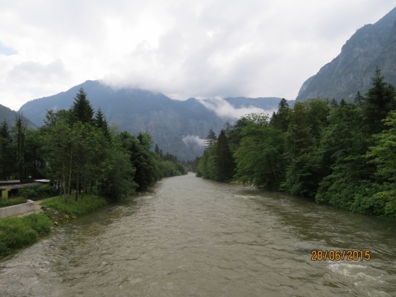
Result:
<svg viewBox="0 0 396 297"><path fill-rule="evenodd" d="M176 156L163 154L148 132L131 135L108 125L83 88L70 109L47 110L44 125L29 129L18 114L15 125L0 124L0 180L49 179L68 201L96 189L117 200L163 177L187 174Z"/></svg>

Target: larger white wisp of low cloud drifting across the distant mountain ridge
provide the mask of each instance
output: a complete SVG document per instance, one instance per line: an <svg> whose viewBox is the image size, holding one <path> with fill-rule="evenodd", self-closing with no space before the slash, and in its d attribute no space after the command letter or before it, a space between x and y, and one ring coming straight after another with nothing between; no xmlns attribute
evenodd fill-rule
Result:
<svg viewBox="0 0 396 297"><path fill-rule="evenodd" d="M241 106L239 108L234 107L230 103L228 103L224 99L203 99L199 100L200 103L202 103L203 106L205 106L207 109L213 110L216 112L216 114L222 118L240 118L243 115L246 115L248 113L253 113L253 112L265 112L264 109L257 108L255 106Z"/></svg>

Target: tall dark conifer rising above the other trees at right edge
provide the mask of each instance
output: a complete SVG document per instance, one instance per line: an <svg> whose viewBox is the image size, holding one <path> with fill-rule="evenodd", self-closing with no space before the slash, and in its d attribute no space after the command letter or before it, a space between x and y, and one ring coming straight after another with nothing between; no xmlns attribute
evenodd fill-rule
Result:
<svg viewBox="0 0 396 297"><path fill-rule="evenodd" d="M385 83L384 78L377 67L374 77L371 78L373 87L366 93L363 114L369 134L381 133L386 128L382 120L387 117L388 112L396 109L395 88Z"/></svg>

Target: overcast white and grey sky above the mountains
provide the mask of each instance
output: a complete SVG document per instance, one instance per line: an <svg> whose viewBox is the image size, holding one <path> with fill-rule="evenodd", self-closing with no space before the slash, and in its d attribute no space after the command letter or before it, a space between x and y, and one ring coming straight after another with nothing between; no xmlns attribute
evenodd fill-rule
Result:
<svg viewBox="0 0 396 297"><path fill-rule="evenodd" d="M0 0L0 104L86 80L171 99L281 97L394 0Z"/></svg>

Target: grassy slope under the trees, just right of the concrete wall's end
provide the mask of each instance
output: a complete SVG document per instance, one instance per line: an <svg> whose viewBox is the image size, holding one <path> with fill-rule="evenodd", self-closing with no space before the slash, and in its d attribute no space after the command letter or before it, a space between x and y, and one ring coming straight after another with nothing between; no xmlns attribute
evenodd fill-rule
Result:
<svg viewBox="0 0 396 297"><path fill-rule="evenodd" d="M76 218L92 213L106 204L109 204L109 201L105 198L89 193L84 194L83 199L79 196L78 201L75 201L74 195L72 195L67 202L62 197L58 197L42 202L40 205L47 206L45 213L50 219L55 223L62 223L70 217Z"/></svg>

